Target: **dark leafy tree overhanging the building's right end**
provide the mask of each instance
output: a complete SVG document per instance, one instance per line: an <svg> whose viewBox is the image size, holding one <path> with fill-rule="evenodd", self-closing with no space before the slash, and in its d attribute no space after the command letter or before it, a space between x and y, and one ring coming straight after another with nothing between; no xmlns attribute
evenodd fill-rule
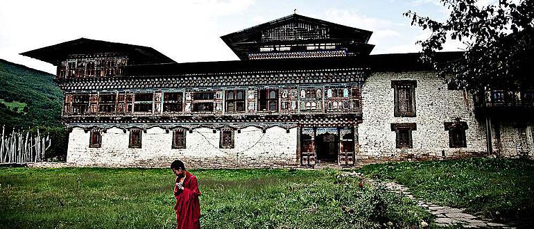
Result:
<svg viewBox="0 0 534 229"><path fill-rule="evenodd" d="M472 93L533 85L534 0L499 0L489 6L477 6L476 0L440 1L451 10L445 22L412 11L404 16L431 32L417 44L422 46L422 59L433 64L447 83ZM459 40L467 48L461 58L440 62L436 51L448 39Z"/></svg>

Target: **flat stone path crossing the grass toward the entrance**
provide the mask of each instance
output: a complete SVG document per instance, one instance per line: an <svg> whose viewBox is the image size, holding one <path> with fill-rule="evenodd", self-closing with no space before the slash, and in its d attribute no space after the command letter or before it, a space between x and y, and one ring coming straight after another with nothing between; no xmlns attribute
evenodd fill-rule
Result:
<svg viewBox="0 0 534 229"><path fill-rule="evenodd" d="M426 202L422 198L415 198L410 192L408 192L407 187L397 183L370 180L368 178L364 178L361 173L357 173L355 171L344 172L343 174L345 174L345 176L358 176L359 178L365 179L365 182L367 183L384 185L388 190L408 196L408 198L411 198L413 201L415 201L417 205L427 209L431 214L436 216L434 223L436 223L437 226L445 227L452 226L454 224L461 224L464 228L513 228L502 223L492 223L489 219L467 214L463 212L464 209L440 206L434 203Z"/></svg>

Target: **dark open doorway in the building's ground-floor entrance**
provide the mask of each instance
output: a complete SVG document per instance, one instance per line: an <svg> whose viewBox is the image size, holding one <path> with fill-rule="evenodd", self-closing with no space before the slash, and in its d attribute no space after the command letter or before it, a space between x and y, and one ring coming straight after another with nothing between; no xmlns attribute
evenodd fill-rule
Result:
<svg viewBox="0 0 534 229"><path fill-rule="evenodd" d="M332 133L317 135L317 162L337 162L339 137Z"/></svg>

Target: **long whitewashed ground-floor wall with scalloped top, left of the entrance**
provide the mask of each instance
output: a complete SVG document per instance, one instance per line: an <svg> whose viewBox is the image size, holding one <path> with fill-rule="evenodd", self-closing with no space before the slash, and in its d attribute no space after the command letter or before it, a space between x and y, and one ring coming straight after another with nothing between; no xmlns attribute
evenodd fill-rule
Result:
<svg viewBox="0 0 534 229"><path fill-rule="evenodd" d="M182 160L188 168L297 167L297 128L277 126L262 133L256 127L234 132L234 149L219 149L219 130L196 128L187 132L187 149L172 149L172 131L150 128L142 133L142 148L128 148L129 131L110 128L102 133L101 148L89 148L90 132L73 128L67 162L96 167L169 167Z"/></svg>

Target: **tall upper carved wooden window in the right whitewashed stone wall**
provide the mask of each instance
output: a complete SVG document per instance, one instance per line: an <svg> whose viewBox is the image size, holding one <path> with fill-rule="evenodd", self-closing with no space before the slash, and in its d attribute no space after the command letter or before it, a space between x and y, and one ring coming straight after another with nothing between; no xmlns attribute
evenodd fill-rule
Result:
<svg viewBox="0 0 534 229"><path fill-rule="evenodd" d="M394 89L395 117L415 117L416 80L392 80Z"/></svg>

